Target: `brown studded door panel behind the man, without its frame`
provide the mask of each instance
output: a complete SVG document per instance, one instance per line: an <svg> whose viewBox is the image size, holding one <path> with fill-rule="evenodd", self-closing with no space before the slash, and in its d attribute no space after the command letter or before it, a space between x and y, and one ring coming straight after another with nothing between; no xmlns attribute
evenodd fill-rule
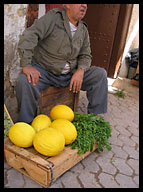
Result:
<svg viewBox="0 0 143 192"><path fill-rule="evenodd" d="M84 21L88 24L92 65L108 72L120 4L89 4Z"/></svg>

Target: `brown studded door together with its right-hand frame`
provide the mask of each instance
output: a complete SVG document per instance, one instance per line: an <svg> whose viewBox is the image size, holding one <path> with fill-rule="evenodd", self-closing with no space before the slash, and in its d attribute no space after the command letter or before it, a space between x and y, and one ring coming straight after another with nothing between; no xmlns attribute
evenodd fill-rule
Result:
<svg viewBox="0 0 143 192"><path fill-rule="evenodd" d="M117 77L124 51L132 4L88 4L84 21L88 24L92 65Z"/></svg>

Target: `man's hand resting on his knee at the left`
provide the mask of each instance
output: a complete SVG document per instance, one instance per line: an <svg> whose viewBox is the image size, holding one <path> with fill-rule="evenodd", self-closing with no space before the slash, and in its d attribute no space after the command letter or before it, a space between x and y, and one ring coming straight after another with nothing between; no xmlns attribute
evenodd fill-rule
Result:
<svg viewBox="0 0 143 192"><path fill-rule="evenodd" d="M39 81L39 77L41 77L40 72L34 67L30 67L30 66L23 67L22 71L27 76L28 82L31 83L31 78L32 78L32 83L34 86L36 86Z"/></svg>

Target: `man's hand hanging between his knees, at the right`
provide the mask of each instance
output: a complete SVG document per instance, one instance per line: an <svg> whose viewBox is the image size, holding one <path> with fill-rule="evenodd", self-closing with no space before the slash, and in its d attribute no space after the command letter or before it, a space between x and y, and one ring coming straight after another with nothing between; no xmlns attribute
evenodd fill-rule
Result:
<svg viewBox="0 0 143 192"><path fill-rule="evenodd" d="M70 91L73 91L73 93L78 93L82 86L84 76L84 70L83 69L77 69L77 71L73 74L71 81L70 81Z"/></svg>

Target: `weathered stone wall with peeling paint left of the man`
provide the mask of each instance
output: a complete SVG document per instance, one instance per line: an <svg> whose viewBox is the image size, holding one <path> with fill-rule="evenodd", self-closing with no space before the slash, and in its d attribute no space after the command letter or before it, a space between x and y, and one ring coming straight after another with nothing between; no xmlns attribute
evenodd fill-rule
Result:
<svg viewBox="0 0 143 192"><path fill-rule="evenodd" d="M21 72L17 44L26 26L27 5L4 4L4 103L13 121L17 119L14 86Z"/></svg>

